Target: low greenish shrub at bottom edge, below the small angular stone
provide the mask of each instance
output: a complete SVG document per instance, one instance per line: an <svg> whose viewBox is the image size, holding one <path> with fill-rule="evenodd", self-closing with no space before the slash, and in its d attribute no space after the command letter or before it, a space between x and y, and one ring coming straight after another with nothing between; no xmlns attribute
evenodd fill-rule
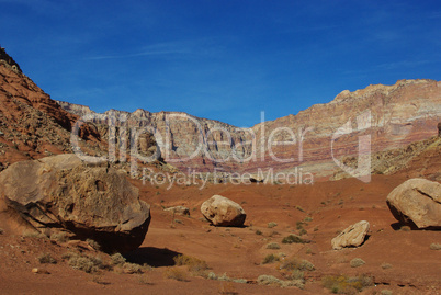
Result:
<svg viewBox="0 0 441 295"><path fill-rule="evenodd" d="M325 276L321 283L324 287L329 288L335 294L357 294L373 285L372 277L365 275L355 277L348 277L347 275Z"/></svg>

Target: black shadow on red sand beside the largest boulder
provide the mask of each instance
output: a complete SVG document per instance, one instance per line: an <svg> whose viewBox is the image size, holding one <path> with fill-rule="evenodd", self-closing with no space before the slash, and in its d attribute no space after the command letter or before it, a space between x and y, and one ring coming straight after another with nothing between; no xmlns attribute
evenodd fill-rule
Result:
<svg viewBox="0 0 441 295"><path fill-rule="evenodd" d="M128 262L144 264L154 268L174 265L173 258L181 254L167 248L142 247L132 252L124 253Z"/></svg>

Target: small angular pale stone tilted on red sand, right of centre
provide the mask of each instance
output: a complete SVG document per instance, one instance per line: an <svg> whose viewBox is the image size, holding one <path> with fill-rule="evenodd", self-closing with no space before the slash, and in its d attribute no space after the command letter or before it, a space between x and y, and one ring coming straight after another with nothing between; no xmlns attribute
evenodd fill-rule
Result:
<svg viewBox="0 0 441 295"><path fill-rule="evenodd" d="M331 240L332 249L340 250L344 247L359 247L364 242L370 224L361 220L349 226Z"/></svg>

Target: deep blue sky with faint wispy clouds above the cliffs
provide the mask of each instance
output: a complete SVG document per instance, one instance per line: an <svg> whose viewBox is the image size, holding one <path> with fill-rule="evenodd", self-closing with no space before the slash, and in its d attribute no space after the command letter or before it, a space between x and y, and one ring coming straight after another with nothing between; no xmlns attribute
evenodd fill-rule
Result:
<svg viewBox="0 0 441 295"><path fill-rule="evenodd" d="M440 1L0 0L0 44L56 100L252 126L441 80Z"/></svg>

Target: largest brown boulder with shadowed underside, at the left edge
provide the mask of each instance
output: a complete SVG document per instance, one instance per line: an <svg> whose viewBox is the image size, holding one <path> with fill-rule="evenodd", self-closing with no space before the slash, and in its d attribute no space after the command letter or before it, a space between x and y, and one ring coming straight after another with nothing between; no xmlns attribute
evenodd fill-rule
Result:
<svg viewBox="0 0 441 295"><path fill-rule="evenodd" d="M63 229L95 240L104 251L125 252L143 243L150 206L123 172L59 155L16 162L0 173L0 215L24 222L19 231Z"/></svg>

